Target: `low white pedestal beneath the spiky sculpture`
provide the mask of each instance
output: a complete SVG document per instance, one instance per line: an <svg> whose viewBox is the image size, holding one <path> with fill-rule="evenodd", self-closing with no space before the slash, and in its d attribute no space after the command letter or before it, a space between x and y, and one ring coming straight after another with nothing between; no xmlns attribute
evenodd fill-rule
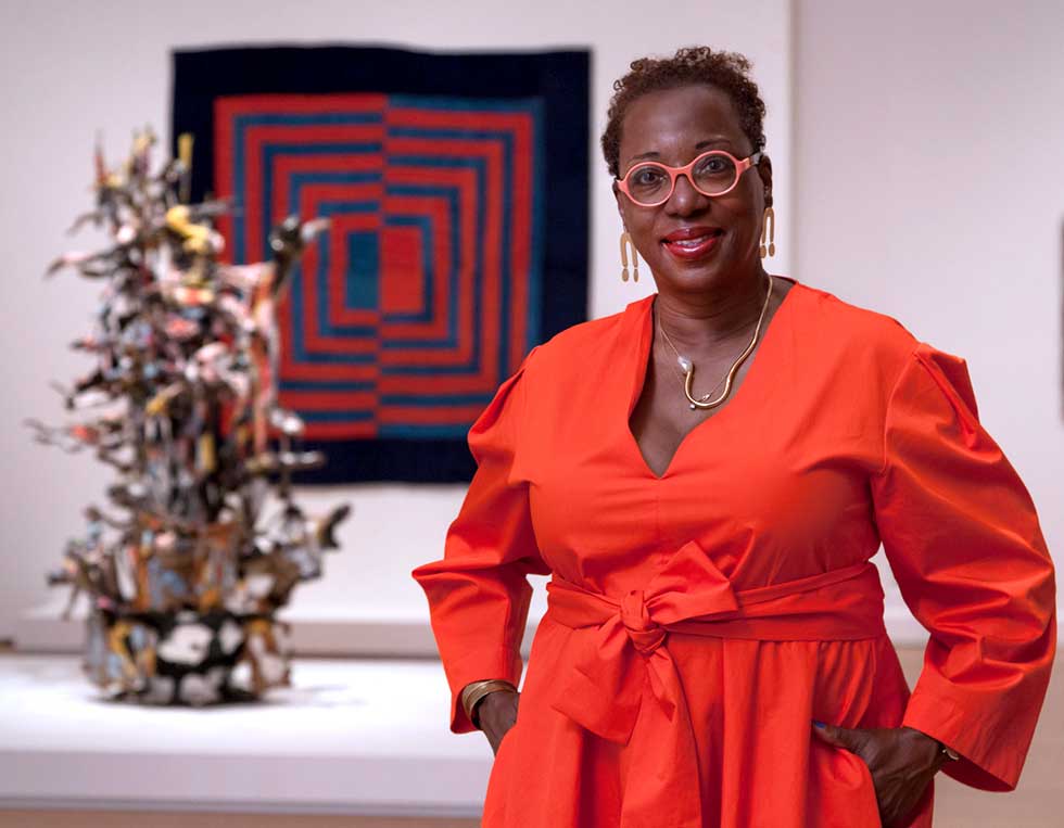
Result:
<svg viewBox="0 0 1064 828"><path fill-rule="evenodd" d="M296 660L202 710L100 701L73 657L0 658L0 807L480 814L492 752L447 729L434 661Z"/></svg>

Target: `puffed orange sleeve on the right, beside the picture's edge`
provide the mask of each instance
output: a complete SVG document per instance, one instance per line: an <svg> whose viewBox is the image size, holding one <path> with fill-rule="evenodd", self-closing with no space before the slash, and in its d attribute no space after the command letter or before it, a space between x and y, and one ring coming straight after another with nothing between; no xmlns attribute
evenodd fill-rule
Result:
<svg viewBox="0 0 1064 828"><path fill-rule="evenodd" d="M1030 495L979 423L967 365L919 343L891 392L875 520L930 633L903 725L985 790L1019 779L1056 646L1055 579Z"/></svg>

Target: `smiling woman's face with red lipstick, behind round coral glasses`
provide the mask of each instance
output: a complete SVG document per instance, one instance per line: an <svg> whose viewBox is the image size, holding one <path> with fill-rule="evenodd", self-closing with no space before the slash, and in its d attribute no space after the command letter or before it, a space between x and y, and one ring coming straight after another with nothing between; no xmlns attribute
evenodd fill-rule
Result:
<svg viewBox="0 0 1064 828"><path fill-rule="evenodd" d="M740 161L753 150L726 94L707 86L648 92L629 106L621 124L620 175L637 161L683 166L708 150L726 150ZM616 184L613 194L658 290L721 289L760 271L762 216L772 204L767 156L735 189L715 198L699 193L686 176L656 207L635 204Z"/></svg>

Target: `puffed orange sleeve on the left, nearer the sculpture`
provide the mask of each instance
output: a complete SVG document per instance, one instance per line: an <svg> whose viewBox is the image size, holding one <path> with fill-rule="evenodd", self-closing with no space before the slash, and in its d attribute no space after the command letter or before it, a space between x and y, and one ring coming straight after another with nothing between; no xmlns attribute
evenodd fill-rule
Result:
<svg viewBox="0 0 1064 828"><path fill-rule="evenodd" d="M429 601L432 632L451 687L451 729L476 729L460 702L470 681L518 685L521 639L532 587L529 574L549 574L529 512L528 482L516 475L528 365L504 382L469 430L477 472L447 530L442 560L411 573Z"/></svg>

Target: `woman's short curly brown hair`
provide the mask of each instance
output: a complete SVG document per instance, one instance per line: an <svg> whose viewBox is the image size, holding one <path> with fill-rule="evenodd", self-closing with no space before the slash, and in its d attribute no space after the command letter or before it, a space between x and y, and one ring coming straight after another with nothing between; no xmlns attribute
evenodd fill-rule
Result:
<svg viewBox="0 0 1064 828"><path fill-rule="evenodd" d="M720 89L732 100L739 125L753 144L764 149L764 101L750 78L750 61L738 52L714 52L707 46L677 49L672 58L641 58L629 73L613 81L613 97L606 113L603 155L610 174L620 175L621 123L629 106L647 92L685 86Z"/></svg>

